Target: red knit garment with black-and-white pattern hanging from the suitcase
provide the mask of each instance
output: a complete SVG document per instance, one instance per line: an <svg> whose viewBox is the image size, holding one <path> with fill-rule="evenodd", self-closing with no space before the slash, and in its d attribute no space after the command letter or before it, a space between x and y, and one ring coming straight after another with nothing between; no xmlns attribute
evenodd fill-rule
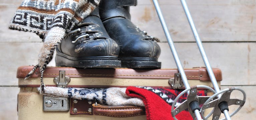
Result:
<svg viewBox="0 0 256 120"><path fill-rule="evenodd" d="M143 99L148 120L173 120L171 108L174 99L182 91L152 88L152 87L127 87L126 94L131 97ZM198 91L198 96L206 96L205 91ZM176 103L176 107L187 99L184 94ZM189 111L182 111L176 115L178 120L193 120Z"/></svg>

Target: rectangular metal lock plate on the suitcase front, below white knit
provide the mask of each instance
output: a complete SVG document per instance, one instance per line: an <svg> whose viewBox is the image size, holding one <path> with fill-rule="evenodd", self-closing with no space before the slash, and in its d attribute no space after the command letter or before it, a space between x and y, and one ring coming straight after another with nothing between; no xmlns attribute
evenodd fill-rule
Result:
<svg viewBox="0 0 256 120"><path fill-rule="evenodd" d="M43 96L43 111L67 112L69 111L69 98Z"/></svg>

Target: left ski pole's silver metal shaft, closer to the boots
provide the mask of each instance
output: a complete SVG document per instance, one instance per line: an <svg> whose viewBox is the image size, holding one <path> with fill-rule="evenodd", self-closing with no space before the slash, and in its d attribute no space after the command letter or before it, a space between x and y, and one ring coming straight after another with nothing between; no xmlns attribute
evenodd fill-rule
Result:
<svg viewBox="0 0 256 120"><path fill-rule="evenodd" d="M181 73L181 78L182 78L182 81L183 81L183 83L184 83L184 86L185 86L186 89L187 89L187 88L190 88L189 83L188 83L187 76L186 76L186 74L185 74L185 72L184 72L184 70L183 70L183 68L182 68L181 61L180 61L180 59L179 59L179 57L178 57L177 51L176 51L176 49L175 49L173 40L172 40L172 38L171 38L171 35L170 35L169 30L168 30L168 28L167 28L167 25L166 25L166 23L165 23L165 19L164 19L164 17L163 17L163 14L162 14L162 12L161 12L160 7L159 7L158 1L157 1L157 0L153 0L153 3L154 3L154 5L155 5L155 8L156 8L158 17L159 17L160 22L161 22L161 25L162 25L162 27L163 27L163 29L164 29L165 36L166 36L167 41L168 41L168 43L169 43L169 46L170 46L170 48L171 48L171 51L172 51L174 60L175 60L175 62L176 62L176 65L177 65L177 67L178 67L179 72Z"/></svg>

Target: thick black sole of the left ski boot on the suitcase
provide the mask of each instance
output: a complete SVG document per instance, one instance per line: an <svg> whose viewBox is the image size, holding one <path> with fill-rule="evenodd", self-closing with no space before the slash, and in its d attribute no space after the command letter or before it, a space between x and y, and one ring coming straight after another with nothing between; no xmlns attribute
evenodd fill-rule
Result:
<svg viewBox="0 0 256 120"><path fill-rule="evenodd" d="M110 59L110 60L109 60ZM102 57L70 57L56 50L56 66L68 66L77 68L120 68L121 61L114 56Z"/></svg>

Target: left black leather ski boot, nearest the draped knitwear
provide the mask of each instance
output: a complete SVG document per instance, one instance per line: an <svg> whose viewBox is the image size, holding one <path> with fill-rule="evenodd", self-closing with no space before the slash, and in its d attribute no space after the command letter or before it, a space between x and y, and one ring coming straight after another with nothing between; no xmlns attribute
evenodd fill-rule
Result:
<svg viewBox="0 0 256 120"><path fill-rule="evenodd" d="M111 39L96 8L70 31L56 48L56 66L79 68L120 67L119 46Z"/></svg>

